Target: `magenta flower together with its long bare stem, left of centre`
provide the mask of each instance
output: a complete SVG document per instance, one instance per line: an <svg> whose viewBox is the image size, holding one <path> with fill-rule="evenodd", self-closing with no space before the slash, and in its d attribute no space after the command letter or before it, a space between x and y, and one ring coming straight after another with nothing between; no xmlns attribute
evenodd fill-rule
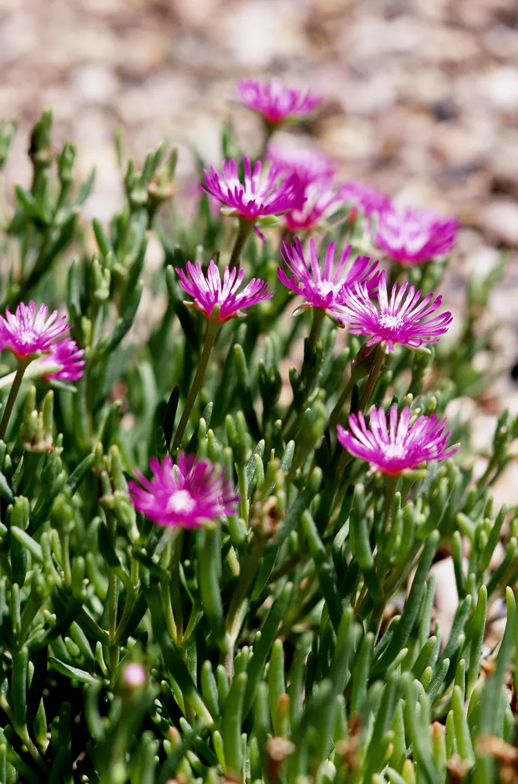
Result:
<svg viewBox="0 0 518 784"><path fill-rule="evenodd" d="M199 365L174 437L174 448L179 448L221 324L228 321L229 318L239 316L243 308L257 305L264 299L270 299L273 292L268 291L268 284L260 278L252 278L243 291L239 292L238 289L243 283L245 270L239 270L238 273L235 268L231 270L230 267L225 267L223 281L221 281L220 270L213 260L210 260L206 277L203 275L202 265L199 261L196 261L195 265L189 261L187 272L179 269L176 271L180 277L182 289L193 298L192 303L186 304L196 310L201 310L207 318L207 332L202 356L199 358Z"/></svg>

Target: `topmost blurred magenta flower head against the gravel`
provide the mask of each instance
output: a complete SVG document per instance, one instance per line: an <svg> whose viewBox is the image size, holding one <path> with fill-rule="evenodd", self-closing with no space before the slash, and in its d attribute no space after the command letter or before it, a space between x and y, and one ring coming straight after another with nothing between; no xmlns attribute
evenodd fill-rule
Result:
<svg viewBox="0 0 518 784"><path fill-rule="evenodd" d="M237 87L243 105L258 111L270 125L301 117L322 103L320 96L284 87L283 82L275 78L266 82L239 79Z"/></svg>

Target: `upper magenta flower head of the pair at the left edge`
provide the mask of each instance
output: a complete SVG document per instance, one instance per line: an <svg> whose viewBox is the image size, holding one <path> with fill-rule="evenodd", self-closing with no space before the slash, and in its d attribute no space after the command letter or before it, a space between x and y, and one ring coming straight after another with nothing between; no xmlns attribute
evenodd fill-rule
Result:
<svg viewBox="0 0 518 784"><path fill-rule="evenodd" d="M55 339L68 328L67 317L57 318L57 310L47 318L49 308L40 305L36 313L35 303L20 303L14 314L5 308L5 318L0 316L0 350L8 350L17 358L27 358L37 351L52 350Z"/></svg>

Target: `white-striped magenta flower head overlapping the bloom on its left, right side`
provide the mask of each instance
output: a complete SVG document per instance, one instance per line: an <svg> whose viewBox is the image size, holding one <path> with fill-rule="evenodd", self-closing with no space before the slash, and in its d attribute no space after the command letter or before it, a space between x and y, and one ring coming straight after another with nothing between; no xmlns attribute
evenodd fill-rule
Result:
<svg viewBox="0 0 518 784"><path fill-rule="evenodd" d="M386 343L387 350L393 351L396 343L411 348L436 343L452 320L450 312L428 318L439 309L442 297L433 299L433 294L428 294L421 299L421 291L409 288L408 281L399 292L395 283L389 299L385 271L379 278L378 304L370 296L367 285L355 284L345 292L341 307L349 332L366 336L367 346Z"/></svg>

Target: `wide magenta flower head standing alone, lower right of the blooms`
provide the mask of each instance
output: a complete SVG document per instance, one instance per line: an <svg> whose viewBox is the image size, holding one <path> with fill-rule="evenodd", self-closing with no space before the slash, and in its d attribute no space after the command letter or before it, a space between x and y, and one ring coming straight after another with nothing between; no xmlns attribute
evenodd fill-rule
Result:
<svg viewBox="0 0 518 784"><path fill-rule="evenodd" d="M418 416L410 425L410 408L403 408L399 416L397 405L389 413L389 426L384 408L370 409L370 426L363 413L349 416L349 430L337 426L337 437L343 448L360 460L370 463L373 471L382 474L401 474L429 460L444 460L458 451L458 446L446 448L450 435L444 432L446 419L437 421L432 416Z"/></svg>

